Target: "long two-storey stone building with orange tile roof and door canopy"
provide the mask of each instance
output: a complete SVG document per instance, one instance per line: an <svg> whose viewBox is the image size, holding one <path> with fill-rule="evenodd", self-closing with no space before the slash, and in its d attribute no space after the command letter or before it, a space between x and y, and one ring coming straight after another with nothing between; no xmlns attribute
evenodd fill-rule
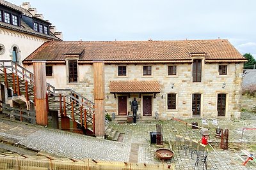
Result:
<svg viewBox="0 0 256 170"><path fill-rule="evenodd" d="M47 41L31 53L46 60L47 81L93 101L93 61L104 61L105 109L126 118L239 118L244 57L226 39Z"/></svg>

